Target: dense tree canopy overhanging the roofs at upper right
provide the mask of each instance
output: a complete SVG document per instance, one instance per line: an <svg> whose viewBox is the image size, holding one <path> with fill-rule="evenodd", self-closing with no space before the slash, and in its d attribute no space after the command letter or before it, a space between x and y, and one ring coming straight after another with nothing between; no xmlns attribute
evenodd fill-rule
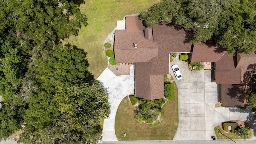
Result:
<svg viewBox="0 0 256 144"><path fill-rule="evenodd" d="M255 0L162 0L140 18L149 27L162 20L193 30L191 42L214 37L229 54L256 51Z"/></svg>

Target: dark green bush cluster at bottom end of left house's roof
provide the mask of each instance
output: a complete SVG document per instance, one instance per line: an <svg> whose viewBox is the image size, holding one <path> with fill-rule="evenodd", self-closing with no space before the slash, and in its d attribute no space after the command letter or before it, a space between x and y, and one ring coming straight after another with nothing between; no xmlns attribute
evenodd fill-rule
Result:
<svg viewBox="0 0 256 144"><path fill-rule="evenodd" d="M135 110L138 123L146 122L150 126L155 126L160 124L160 121L157 120L158 116L164 116L164 112L161 112L163 104L166 102L166 99L158 100L145 100L137 98L140 106Z"/></svg>

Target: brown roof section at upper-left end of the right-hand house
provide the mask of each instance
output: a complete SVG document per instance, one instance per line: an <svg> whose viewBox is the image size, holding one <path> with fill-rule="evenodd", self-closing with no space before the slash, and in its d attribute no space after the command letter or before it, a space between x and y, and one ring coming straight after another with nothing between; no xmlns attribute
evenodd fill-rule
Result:
<svg viewBox="0 0 256 144"><path fill-rule="evenodd" d="M194 44L191 62L217 62L224 54L226 48L216 44Z"/></svg>

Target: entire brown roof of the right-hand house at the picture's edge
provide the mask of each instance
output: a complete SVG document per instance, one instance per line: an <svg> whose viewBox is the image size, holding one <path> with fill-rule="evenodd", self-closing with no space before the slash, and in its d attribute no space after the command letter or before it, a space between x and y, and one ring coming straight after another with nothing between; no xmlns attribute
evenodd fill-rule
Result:
<svg viewBox="0 0 256 144"><path fill-rule="evenodd" d="M250 92L251 73L256 70L256 54L228 55L216 44L194 44L191 62L213 62L214 81L221 86L221 100L225 106L244 106Z"/></svg>

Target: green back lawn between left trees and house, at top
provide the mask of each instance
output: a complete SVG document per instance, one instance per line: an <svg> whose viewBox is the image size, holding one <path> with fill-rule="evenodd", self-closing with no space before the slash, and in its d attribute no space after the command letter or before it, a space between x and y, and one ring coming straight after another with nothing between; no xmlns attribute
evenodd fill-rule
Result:
<svg viewBox="0 0 256 144"><path fill-rule="evenodd" d="M78 36L65 40L84 49L90 64L88 70L94 78L107 67L107 58L102 46L104 40L116 26L116 20L122 20L125 15L147 10L160 0L85 0L80 10L88 18L88 26L82 26Z"/></svg>

